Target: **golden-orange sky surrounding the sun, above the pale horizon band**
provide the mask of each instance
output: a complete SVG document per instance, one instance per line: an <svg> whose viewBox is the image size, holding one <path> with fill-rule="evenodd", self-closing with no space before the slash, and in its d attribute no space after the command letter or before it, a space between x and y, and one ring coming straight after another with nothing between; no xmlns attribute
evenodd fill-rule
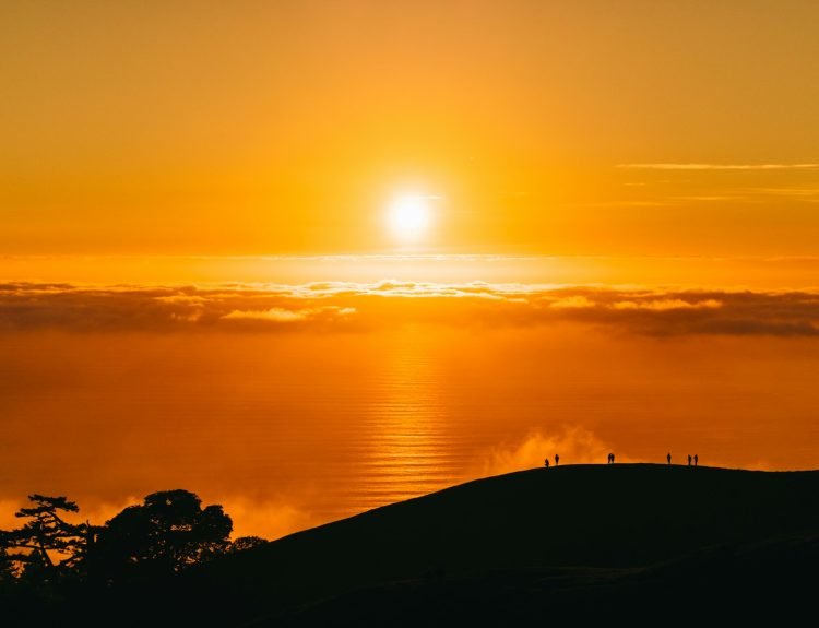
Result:
<svg viewBox="0 0 819 628"><path fill-rule="evenodd" d="M819 253L812 0L9 1L4 254Z"/></svg>

